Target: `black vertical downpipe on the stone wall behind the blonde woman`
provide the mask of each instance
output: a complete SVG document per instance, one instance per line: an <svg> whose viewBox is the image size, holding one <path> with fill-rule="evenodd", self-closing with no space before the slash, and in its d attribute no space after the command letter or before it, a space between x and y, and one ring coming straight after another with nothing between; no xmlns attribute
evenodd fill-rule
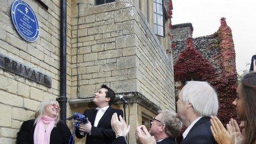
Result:
<svg viewBox="0 0 256 144"><path fill-rule="evenodd" d="M66 124L67 117L67 1L61 0L61 67L60 67L60 119Z"/></svg>

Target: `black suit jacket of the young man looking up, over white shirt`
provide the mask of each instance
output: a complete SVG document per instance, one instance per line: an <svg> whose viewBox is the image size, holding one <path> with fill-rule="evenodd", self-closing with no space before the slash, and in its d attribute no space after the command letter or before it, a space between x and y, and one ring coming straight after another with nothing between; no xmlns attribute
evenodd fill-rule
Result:
<svg viewBox="0 0 256 144"><path fill-rule="evenodd" d="M90 131L90 135L87 134L86 143L97 143L97 144L109 144L115 139L115 132L112 130L111 127L111 117L114 113L117 113L118 116L122 114L122 110L120 109L112 109L110 106L106 109L104 115L99 120L98 126L95 127L94 121L95 116L97 114L97 110L90 109L85 110L84 115L87 116L88 120L92 124L92 130ZM80 134L79 130L76 130L77 138L83 138L84 136Z"/></svg>

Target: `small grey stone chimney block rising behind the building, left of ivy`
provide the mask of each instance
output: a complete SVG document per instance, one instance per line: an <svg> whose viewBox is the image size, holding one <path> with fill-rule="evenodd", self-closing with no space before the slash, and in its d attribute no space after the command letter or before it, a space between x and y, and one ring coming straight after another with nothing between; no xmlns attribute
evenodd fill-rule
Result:
<svg viewBox="0 0 256 144"><path fill-rule="evenodd" d="M172 26L173 41L191 38L193 26L191 23L175 24Z"/></svg>

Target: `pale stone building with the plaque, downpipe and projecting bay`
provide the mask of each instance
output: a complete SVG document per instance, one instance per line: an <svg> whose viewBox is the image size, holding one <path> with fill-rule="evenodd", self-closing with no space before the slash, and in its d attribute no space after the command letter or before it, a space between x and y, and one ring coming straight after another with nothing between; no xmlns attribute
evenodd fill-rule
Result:
<svg viewBox="0 0 256 144"><path fill-rule="evenodd" d="M25 1L39 21L40 34L34 42L25 41L15 30L13 2L1 2L0 54L12 66L16 62L34 73L28 77L17 69L0 68L0 143L15 143L22 122L31 119L39 103L56 99L61 92L61 2ZM95 108L91 101L101 84L127 99L126 121L133 128L150 127L157 110L175 110L172 52L166 54L171 43L169 2L67 1L67 116ZM47 83L40 82L46 77ZM114 107L122 109L121 102ZM71 122L68 125L72 128ZM136 143L135 129L129 140ZM77 142L84 143L84 138Z"/></svg>

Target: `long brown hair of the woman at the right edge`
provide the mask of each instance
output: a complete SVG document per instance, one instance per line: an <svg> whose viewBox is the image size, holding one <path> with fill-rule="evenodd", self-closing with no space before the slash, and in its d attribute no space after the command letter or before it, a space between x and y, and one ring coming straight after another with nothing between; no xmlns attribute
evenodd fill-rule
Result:
<svg viewBox="0 0 256 144"><path fill-rule="evenodd" d="M247 73L242 81L245 110L245 143L256 141L256 72Z"/></svg>

